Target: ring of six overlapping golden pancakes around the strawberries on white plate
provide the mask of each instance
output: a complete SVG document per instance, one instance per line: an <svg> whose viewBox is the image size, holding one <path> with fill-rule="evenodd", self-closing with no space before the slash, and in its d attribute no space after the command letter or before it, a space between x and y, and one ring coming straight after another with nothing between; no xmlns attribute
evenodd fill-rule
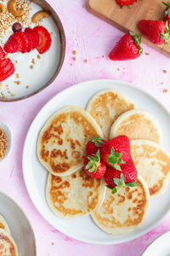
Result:
<svg viewBox="0 0 170 256"><path fill-rule="evenodd" d="M90 138L106 140L126 135L139 173L139 187L106 189L104 178L89 177L83 171ZM150 197L166 188L170 156L159 145L161 128L156 119L117 90L101 90L86 110L74 106L54 113L42 127L37 156L48 170L48 206L60 218L90 214L100 229L124 234L137 229L149 210Z"/></svg>

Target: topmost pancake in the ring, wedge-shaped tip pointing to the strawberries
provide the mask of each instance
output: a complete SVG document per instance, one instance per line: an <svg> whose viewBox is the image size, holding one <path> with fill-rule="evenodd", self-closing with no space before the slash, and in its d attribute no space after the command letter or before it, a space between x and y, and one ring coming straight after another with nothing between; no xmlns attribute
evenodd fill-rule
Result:
<svg viewBox="0 0 170 256"><path fill-rule="evenodd" d="M109 139L111 125L122 113L133 109L134 103L118 90L100 90L88 102L87 110Z"/></svg>

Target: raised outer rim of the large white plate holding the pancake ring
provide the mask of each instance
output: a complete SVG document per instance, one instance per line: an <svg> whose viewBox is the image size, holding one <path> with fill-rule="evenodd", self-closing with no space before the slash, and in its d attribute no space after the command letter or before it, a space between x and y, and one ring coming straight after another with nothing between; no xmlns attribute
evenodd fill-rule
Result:
<svg viewBox="0 0 170 256"><path fill-rule="evenodd" d="M150 94L150 92L148 92L147 90L144 90L142 88L139 88L137 87L135 84L131 84L131 83L128 83L126 81L123 81L123 80L116 80L116 79L91 79L91 80L87 80L87 81L84 81L84 82L81 82L81 83L77 83L77 84L73 84L71 85L70 87L64 89L64 90L61 90L59 91L59 93L57 93L55 96L53 96L48 102L46 102L43 107L40 109L40 111L37 113L37 115L34 117L34 119L32 120L31 122L31 125L29 127L29 129L27 130L27 133L26 133L26 138L25 138L25 143L24 143L24 146L23 146L23 152L22 152L22 171L23 171L23 177L24 177L24 182L26 184L26 189L27 189L27 192L28 192L28 195L30 196L31 198L31 201L33 203L33 205L37 208L37 211L42 215L42 218L44 218L48 224L51 224L54 229L56 230L59 230L59 232L65 234L65 236L70 236L71 238L73 239L76 239L78 241L83 241L83 242L86 242L86 243L90 243L90 244L98 244L98 245L114 245L114 244L120 244L120 243L123 243L123 242L127 242L127 241L133 241L134 239L137 239L139 238L140 236L144 236L146 233L150 232L150 230L153 230L158 224L161 223L162 219L165 218L168 214L168 212L170 211L170 205L169 207L167 207L167 209L164 211L165 213L161 216L161 218L158 218L157 221L154 223L154 224L151 224L150 225L150 228L146 228L144 231L140 231L140 233L136 236L133 236L133 238L130 238L128 239L128 236L127 236L127 239L125 240L121 240L120 241L90 241L90 239L87 239L87 238L84 238L84 239L81 239L81 238L78 238L77 236L74 236L71 234L71 232L65 232L65 229L63 228L60 228L60 227L57 227L57 224L55 225L52 221L50 221L50 218L48 218L48 215L46 212L43 212L40 208L37 207L37 203L36 201L34 200L34 196L32 195L31 193L31 189L30 189L30 186L29 184L27 183L27 174L26 174L26 171L25 171L25 162L24 162L24 159L25 159L25 154L26 154L26 143L27 143L27 140L28 140L28 137L29 137L29 133L31 132L31 126L33 125L34 121L37 119L38 115L42 113L43 109L44 108L47 108L47 105L50 104L50 102L54 101L55 97L59 97L59 96L62 96L62 95L65 95L68 93L69 90L74 90L74 89L77 89L79 86L85 86L85 84L91 84L91 83L108 83L111 84L111 83L116 83L116 84L123 84L123 85L127 85L128 87L131 87L135 90L139 90L139 92L141 93L144 93L146 96L149 96L152 100L154 100L156 103L158 103L161 108L163 108L166 113L169 115L170 117L170 111L168 110L167 106L164 106L163 103L161 102L161 100L157 99L155 96L152 96ZM105 87L105 89L107 89L108 87Z"/></svg>

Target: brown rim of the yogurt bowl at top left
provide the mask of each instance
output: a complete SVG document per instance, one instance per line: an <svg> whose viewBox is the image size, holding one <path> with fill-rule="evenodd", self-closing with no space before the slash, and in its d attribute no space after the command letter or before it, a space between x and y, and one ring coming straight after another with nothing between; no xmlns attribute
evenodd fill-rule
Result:
<svg viewBox="0 0 170 256"><path fill-rule="evenodd" d="M30 94L26 96L21 96L18 98L1 98L0 97L0 102L18 102L21 100L25 100L31 96L37 95L37 93L41 92L42 90L46 89L50 84L54 82L54 80L57 78L61 67L63 66L64 60L65 60L65 49L66 49L66 38L65 38L65 30L64 27L61 23L61 20L59 19L59 15L57 15L56 11L53 9L53 7L46 1L46 0L31 0L34 3L37 3L42 9L45 9L52 15L53 20L55 22L55 25L57 26L59 30L59 38L60 38L60 58L59 58L59 65L54 73L54 76L49 79L48 83L43 84L42 87L36 91L31 92Z"/></svg>

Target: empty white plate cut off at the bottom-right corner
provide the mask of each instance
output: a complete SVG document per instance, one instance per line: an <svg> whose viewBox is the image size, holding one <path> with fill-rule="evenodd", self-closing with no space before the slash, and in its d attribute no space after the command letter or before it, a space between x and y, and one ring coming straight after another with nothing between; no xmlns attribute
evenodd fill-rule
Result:
<svg viewBox="0 0 170 256"><path fill-rule="evenodd" d="M142 256L169 256L170 255L170 231L158 236L142 253Z"/></svg>

